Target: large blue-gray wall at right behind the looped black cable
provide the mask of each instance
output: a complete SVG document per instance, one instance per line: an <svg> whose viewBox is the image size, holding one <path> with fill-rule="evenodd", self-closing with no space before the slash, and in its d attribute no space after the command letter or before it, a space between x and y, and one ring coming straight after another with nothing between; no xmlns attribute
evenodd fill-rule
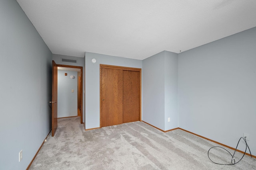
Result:
<svg viewBox="0 0 256 170"><path fill-rule="evenodd" d="M179 127L256 155L256 27L178 55ZM244 150L242 145L240 150Z"/></svg>

